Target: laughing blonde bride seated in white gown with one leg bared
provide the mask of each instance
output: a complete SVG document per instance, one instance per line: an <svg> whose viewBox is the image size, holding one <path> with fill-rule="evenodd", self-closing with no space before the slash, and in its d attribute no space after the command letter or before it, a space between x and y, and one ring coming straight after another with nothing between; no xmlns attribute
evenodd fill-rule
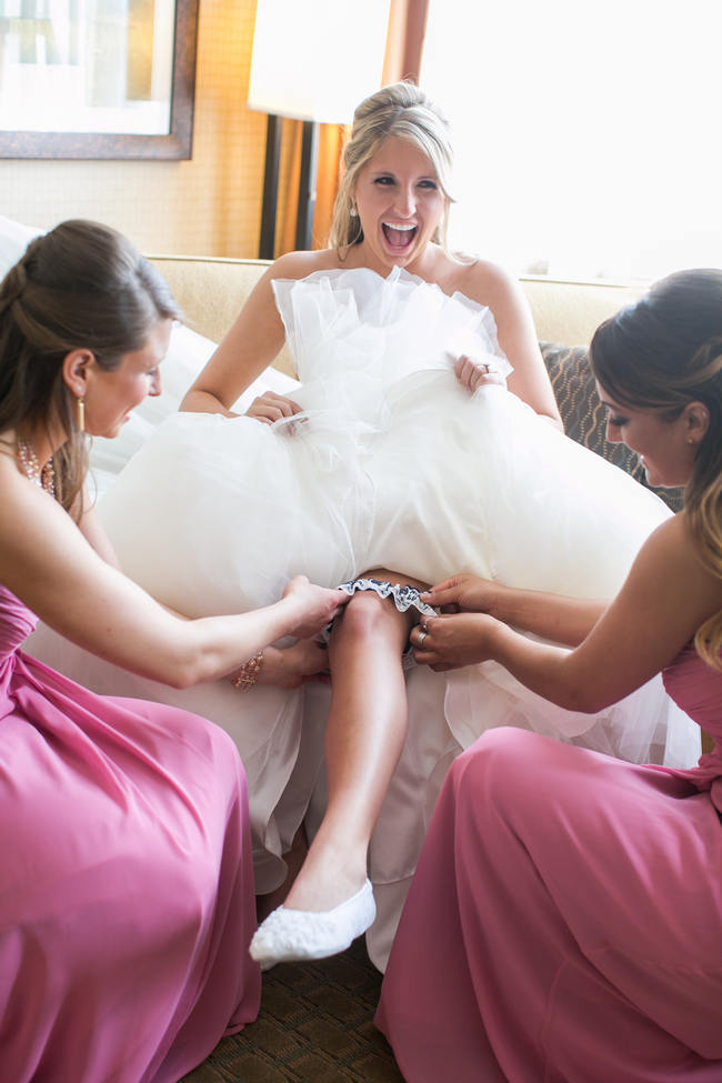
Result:
<svg viewBox="0 0 722 1083"><path fill-rule="evenodd" d="M318 685L258 686L232 706L238 693L208 690L221 705L192 709L239 743L261 891L282 880L279 858L304 818L314 832L254 957L321 957L369 929L383 969L445 772L482 730L534 728L634 760L661 760L670 734L684 762L696 746L656 680L581 715L540 712L493 663L442 674L404 662L411 624L432 612L419 590L463 571L611 598L670 512L562 434L520 285L449 251L451 149L437 107L408 83L373 94L344 164L331 247L269 268L184 412L99 511L123 569L191 616L265 604L298 572L353 595L328 655L302 648L308 673L328 665L330 702ZM300 385L238 417L284 338ZM126 682L113 676L114 691Z"/></svg>

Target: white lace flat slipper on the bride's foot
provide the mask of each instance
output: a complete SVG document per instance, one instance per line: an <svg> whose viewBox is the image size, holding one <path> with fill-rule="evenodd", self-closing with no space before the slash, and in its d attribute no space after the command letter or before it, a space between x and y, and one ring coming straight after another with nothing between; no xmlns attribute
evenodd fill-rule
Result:
<svg viewBox="0 0 722 1083"><path fill-rule="evenodd" d="M278 906L259 925L251 941L251 957L265 970L273 963L325 959L345 951L377 915L371 881L334 906L314 913Z"/></svg>

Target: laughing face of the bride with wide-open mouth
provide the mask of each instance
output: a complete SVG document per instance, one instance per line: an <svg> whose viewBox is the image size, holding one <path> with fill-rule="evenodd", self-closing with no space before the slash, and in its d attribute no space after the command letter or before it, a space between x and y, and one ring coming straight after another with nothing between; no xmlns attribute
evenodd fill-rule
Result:
<svg viewBox="0 0 722 1083"><path fill-rule="evenodd" d="M359 172L354 201L367 265L381 274L413 270L443 218L445 197L432 162L391 137Z"/></svg>

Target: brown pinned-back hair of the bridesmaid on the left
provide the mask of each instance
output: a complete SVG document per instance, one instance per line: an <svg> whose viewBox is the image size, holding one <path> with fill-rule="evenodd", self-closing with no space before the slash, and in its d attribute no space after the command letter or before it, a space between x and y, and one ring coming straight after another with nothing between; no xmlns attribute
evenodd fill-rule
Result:
<svg viewBox="0 0 722 1083"><path fill-rule="evenodd" d="M53 468L67 510L82 492L88 447L63 359L88 349L112 371L160 320L179 317L169 287L130 241L81 219L31 241L0 283L0 432L60 422L67 442Z"/></svg>

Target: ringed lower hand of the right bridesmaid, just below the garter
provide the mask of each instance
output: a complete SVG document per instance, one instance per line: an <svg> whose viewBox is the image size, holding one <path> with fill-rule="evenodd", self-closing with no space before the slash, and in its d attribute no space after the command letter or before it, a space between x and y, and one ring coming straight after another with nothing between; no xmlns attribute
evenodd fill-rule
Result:
<svg viewBox="0 0 722 1083"><path fill-rule="evenodd" d="M503 628L485 613L441 613L411 629L413 656L438 673L477 665L493 658L493 638Z"/></svg>

